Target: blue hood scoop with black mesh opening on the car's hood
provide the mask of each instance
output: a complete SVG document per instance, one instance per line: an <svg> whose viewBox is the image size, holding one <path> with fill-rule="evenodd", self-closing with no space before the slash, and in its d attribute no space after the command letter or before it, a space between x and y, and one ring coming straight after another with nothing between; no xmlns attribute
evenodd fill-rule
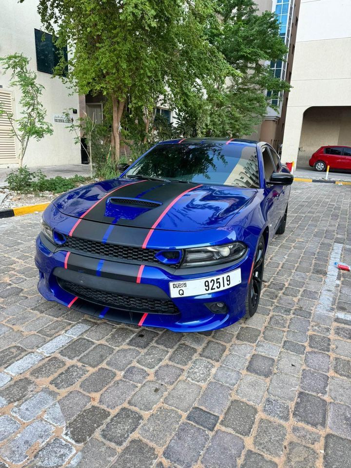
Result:
<svg viewBox="0 0 351 468"><path fill-rule="evenodd" d="M120 219L132 221L160 205L162 203L141 198L110 196L106 201L105 216L114 218L114 224Z"/></svg>

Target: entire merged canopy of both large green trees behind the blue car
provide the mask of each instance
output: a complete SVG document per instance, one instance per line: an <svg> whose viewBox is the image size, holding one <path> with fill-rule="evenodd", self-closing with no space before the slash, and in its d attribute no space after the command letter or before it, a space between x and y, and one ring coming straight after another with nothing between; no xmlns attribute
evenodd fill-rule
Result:
<svg viewBox="0 0 351 468"><path fill-rule="evenodd" d="M276 17L254 0L39 0L38 11L68 45L71 86L103 96L112 138L95 143L98 128L89 136L84 124L98 175L115 170L120 137L135 158L165 138L250 134L266 90L289 89L265 65L287 53ZM156 115L160 105L177 110L175 127Z"/></svg>

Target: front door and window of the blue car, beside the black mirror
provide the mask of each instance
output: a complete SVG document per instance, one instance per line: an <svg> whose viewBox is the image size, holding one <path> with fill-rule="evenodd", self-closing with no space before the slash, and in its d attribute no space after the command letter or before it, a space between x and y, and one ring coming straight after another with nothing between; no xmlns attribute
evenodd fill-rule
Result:
<svg viewBox="0 0 351 468"><path fill-rule="evenodd" d="M275 233L277 225L281 219L281 202L279 197L282 192L282 185L268 185L267 181L271 179L273 172L276 172L276 167L273 164L273 159L268 146L262 147L262 159L265 178L265 205L264 211L269 224L270 240Z"/></svg>

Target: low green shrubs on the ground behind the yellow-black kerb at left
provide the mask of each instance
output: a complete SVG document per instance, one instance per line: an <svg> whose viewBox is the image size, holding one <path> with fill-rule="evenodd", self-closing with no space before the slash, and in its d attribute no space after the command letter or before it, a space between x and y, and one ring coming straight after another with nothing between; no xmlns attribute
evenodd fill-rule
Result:
<svg viewBox="0 0 351 468"><path fill-rule="evenodd" d="M22 194L41 192L59 194L74 189L79 184L86 182L87 179L77 174L69 178L61 176L47 178L40 170L31 172L27 166L23 166L12 171L5 180L10 190Z"/></svg>

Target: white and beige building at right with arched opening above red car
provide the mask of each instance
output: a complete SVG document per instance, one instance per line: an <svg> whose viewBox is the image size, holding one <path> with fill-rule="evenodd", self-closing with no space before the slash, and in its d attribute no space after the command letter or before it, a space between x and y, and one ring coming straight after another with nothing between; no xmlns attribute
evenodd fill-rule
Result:
<svg viewBox="0 0 351 468"><path fill-rule="evenodd" d="M351 1L301 0L282 160L351 145Z"/></svg>

